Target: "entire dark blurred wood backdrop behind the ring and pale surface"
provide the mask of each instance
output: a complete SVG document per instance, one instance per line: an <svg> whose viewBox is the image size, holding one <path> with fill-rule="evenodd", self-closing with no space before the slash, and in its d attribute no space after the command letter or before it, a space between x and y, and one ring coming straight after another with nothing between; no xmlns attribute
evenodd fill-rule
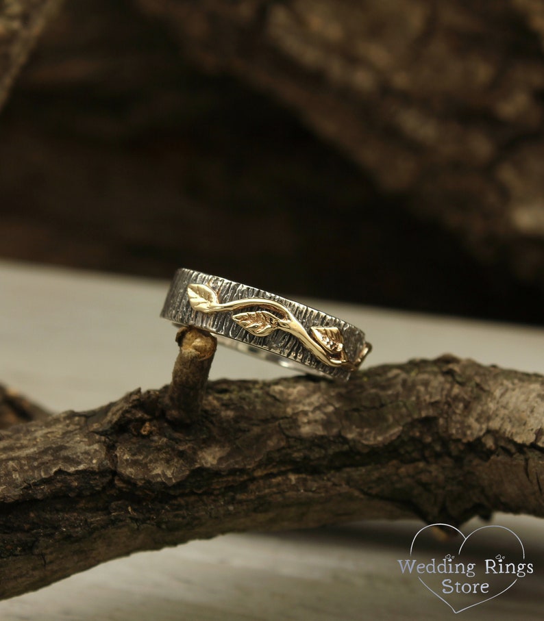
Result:
<svg viewBox="0 0 544 621"><path fill-rule="evenodd" d="M0 255L541 323L544 5L10 0Z"/></svg>

